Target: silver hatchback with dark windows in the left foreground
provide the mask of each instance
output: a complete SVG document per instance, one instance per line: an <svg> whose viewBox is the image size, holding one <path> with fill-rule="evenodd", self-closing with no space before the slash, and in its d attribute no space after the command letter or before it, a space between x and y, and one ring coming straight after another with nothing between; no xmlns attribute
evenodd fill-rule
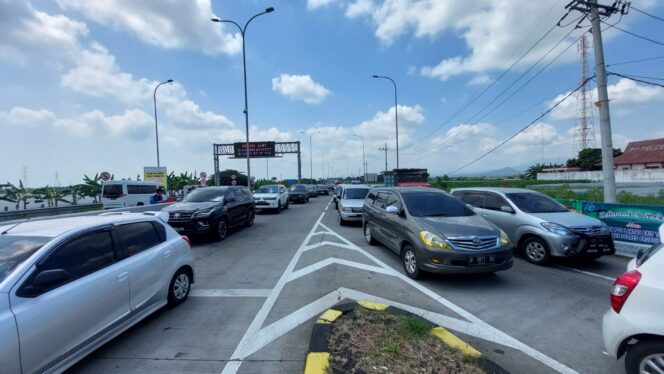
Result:
<svg viewBox="0 0 664 374"><path fill-rule="evenodd" d="M158 309L187 299L188 239L156 215L0 227L0 371L61 373Z"/></svg>

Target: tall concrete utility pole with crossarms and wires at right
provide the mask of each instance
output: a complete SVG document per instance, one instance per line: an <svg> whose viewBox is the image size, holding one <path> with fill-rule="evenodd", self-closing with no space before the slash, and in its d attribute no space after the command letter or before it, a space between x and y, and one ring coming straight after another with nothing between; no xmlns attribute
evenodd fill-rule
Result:
<svg viewBox="0 0 664 374"><path fill-rule="evenodd" d="M590 16L593 34L593 49L595 52L595 77L597 80L597 98L595 103L599 107L599 128L602 141L602 182L604 187L604 202L616 202L616 176L613 166L613 139L611 134L611 115L609 111L609 94L606 83L606 66L604 65L604 44L602 44L602 28L600 16L610 17L621 12L626 14L628 7L622 1L616 1L612 6L601 5L597 0L574 0L566 6L569 10L578 10Z"/></svg>

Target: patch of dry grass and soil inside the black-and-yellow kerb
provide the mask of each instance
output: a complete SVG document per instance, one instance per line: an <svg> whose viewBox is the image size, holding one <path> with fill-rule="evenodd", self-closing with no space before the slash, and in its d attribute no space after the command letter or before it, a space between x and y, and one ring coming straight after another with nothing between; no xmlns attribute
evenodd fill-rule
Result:
<svg viewBox="0 0 664 374"><path fill-rule="evenodd" d="M334 323L331 373L484 373L431 334L433 326L408 315L358 308Z"/></svg>

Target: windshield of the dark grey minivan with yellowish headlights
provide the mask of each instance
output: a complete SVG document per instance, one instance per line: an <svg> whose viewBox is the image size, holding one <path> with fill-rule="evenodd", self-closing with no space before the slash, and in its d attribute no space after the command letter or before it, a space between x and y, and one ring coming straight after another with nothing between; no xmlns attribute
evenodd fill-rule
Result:
<svg viewBox="0 0 664 374"><path fill-rule="evenodd" d="M408 211L415 217L463 217L475 213L453 196L444 193L404 193Z"/></svg>

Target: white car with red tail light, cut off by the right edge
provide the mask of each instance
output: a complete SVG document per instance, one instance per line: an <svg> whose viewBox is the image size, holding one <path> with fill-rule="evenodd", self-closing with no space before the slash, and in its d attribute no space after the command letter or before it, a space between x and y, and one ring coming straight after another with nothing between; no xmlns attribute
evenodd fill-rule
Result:
<svg viewBox="0 0 664 374"><path fill-rule="evenodd" d="M627 374L664 373L664 244L641 251L629 268L611 291L604 346L613 358L625 356Z"/></svg>

